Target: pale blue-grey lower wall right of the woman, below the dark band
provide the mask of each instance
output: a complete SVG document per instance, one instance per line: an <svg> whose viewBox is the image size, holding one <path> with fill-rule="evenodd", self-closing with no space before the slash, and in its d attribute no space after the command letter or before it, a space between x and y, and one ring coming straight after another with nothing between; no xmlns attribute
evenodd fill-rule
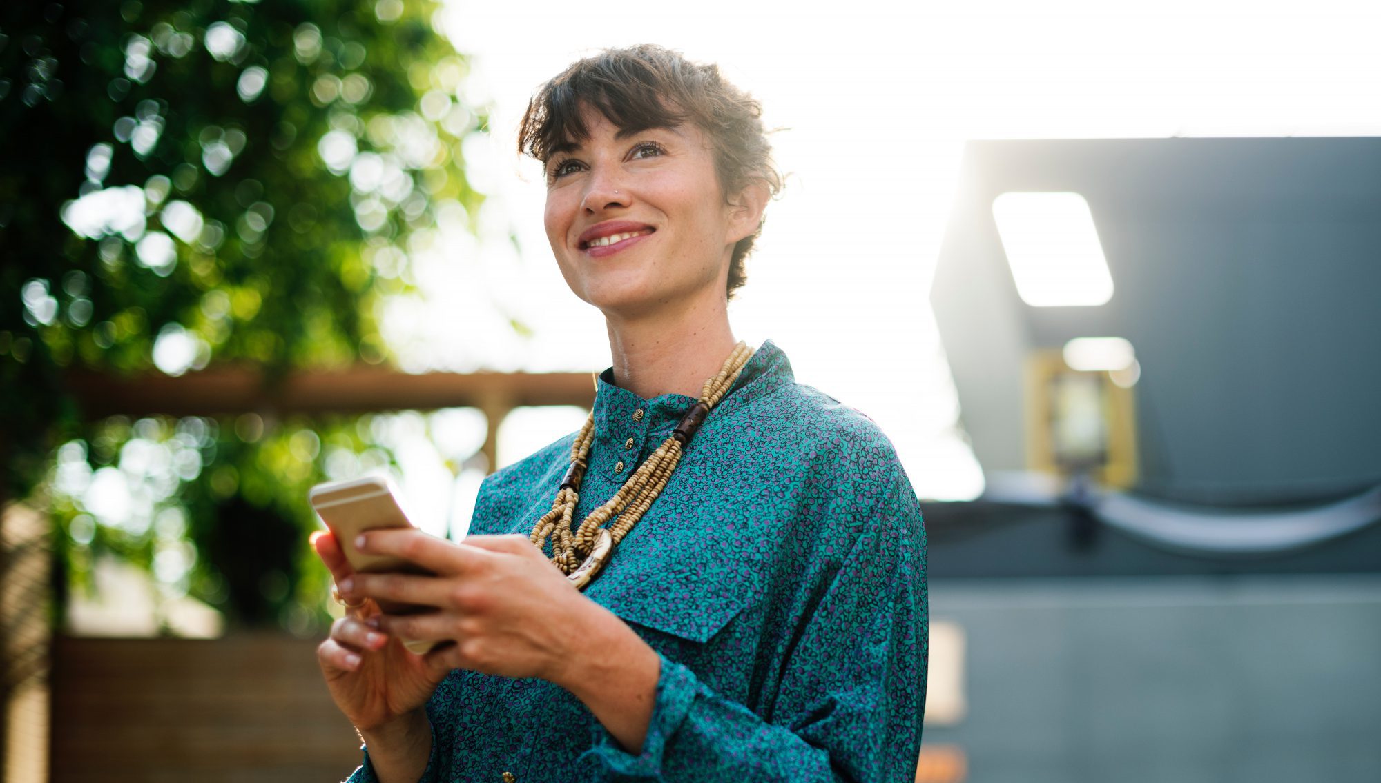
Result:
<svg viewBox="0 0 1381 783"><path fill-rule="evenodd" d="M1381 576L938 579L972 783L1381 780Z"/></svg>

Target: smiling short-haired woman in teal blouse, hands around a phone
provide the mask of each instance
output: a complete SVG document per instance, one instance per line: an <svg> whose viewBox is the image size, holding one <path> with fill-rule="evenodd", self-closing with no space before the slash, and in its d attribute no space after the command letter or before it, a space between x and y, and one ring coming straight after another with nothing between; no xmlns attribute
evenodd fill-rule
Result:
<svg viewBox="0 0 1381 783"><path fill-rule="evenodd" d="M757 102L612 50L541 88L519 149L613 367L580 433L485 481L463 543L358 542L436 576L351 573L318 536L349 607L319 659L365 740L352 780L911 780L916 495L867 418L729 328L780 183Z"/></svg>

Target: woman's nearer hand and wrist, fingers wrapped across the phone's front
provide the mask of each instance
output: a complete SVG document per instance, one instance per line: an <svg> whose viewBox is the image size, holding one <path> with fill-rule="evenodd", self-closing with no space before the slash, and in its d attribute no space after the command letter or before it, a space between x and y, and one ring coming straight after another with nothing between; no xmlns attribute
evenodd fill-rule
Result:
<svg viewBox="0 0 1381 783"><path fill-rule="evenodd" d="M443 642L425 655L428 666L547 680L584 702L626 749L642 747L661 670L657 653L586 598L526 536L468 536L456 545L416 529L378 529L355 546L435 573L358 573L341 584L348 601L435 607L377 618L394 640Z"/></svg>

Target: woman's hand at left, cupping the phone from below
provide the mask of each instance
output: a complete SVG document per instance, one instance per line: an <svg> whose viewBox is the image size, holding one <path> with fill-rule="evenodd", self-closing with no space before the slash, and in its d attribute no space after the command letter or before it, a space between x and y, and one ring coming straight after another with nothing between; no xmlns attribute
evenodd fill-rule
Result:
<svg viewBox="0 0 1381 783"><path fill-rule="evenodd" d="M336 706L362 735L396 729L409 720L417 724L418 717L425 720L425 714L418 713L436 684L446 677L447 669L407 652L400 641L373 627L378 623L378 604L347 594L344 586L356 575L336 536L329 532L313 535L312 546L330 569L344 600L358 604L347 605L345 616L331 624L330 637L316 648L316 659Z"/></svg>

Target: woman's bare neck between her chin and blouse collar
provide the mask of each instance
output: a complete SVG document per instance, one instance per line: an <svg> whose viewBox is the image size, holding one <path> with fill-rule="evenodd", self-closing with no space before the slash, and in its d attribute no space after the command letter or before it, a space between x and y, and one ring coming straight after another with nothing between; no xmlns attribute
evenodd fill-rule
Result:
<svg viewBox="0 0 1381 783"><path fill-rule="evenodd" d="M737 343L728 302L692 303L639 320L608 318L615 383L649 400L659 394L699 397Z"/></svg>

